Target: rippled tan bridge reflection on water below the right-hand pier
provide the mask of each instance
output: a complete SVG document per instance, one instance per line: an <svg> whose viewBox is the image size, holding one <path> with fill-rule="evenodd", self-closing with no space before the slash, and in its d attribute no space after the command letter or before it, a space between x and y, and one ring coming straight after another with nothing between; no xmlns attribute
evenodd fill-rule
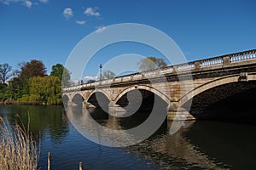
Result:
<svg viewBox="0 0 256 170"><path fill-rule="evenodd" d="M172 123L172 122L169 122ZM197 169L225 169L222 162L216 162L184 135L188 133L194 122L185 122L174 135L161 133L129 147L131 153L154 161L161 169L180 169L193 167Z"/></svg>

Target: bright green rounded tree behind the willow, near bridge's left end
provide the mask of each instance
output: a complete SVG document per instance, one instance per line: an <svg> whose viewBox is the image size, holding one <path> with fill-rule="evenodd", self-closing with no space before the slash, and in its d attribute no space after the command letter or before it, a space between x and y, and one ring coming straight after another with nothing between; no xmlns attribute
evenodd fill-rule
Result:
<svg viewBox="0 0 256 170"><path fill-rule="evenodd" d="M70 72L67 71L67 68L65 68L63 65L59 63L53 65L49 75L53 77L59 77L64 87L69 86Z"/></svg>

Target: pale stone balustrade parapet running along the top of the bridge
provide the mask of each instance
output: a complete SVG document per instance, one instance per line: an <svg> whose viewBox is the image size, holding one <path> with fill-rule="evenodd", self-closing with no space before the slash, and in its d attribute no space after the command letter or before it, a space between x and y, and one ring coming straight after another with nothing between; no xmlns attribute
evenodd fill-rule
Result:
<svg viewBox="0 0 256 170"><path fill-rule="evenodd" d="M194 71L214 70L216 68L222 68L222 67L226 68L229 66L247 65L248 62L252 62L252 63L256 62L256 49L247 50L247 51L243 51L235 54L225 54L222 56L217 56L209 59L196 60L196 61L179 64L179 65L171 65L171 66L160 68L154 71L138 72L131 75L125 75L122 77L115 77L113 79L103 80L101 82L97 81L97 82L85 83L83 85L79 85L75 87L63 88L63 92L75 91L83 88L94 88L96 86L109 85L110 87L110 85L113 83L118 84L118 83L125 83L125 82L131 82L131 81L140 81L140 80L151 78L151 77L175 75L177 74L177 71L193 73Z"/></svg>

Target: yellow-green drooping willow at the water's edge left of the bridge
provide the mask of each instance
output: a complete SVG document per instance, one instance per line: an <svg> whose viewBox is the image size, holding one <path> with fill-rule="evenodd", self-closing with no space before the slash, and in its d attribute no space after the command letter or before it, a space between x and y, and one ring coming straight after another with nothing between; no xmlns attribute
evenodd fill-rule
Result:
<svg viewBox="0 0 256 170"><path fill-rule="evenodd" d="M29 102L35 104L61 104L59 77L32 77L29 79Z"/></svg>

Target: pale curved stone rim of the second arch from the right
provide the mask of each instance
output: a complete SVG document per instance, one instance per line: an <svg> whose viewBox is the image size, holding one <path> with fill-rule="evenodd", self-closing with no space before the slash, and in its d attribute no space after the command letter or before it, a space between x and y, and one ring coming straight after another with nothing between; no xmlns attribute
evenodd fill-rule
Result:
<svg viewBox="0 0 256 170"><path fill-rule="evenodd" d="M130 92L131 90L134 89L143 89L143 90L147 90L149 92L152 92L154 94L157 94L161 99L163 99L167 105L171 104L171 99L169 99L168 96L166 96L166 94L161 93L158 89L156 88L152 88L150 86L144 86L144 85L137 85L137 86L132 86L129 88L125 88L125 90L123 90L120 94L118 94L118 96L113 100L113 103L116 104L119 99L121 99L121 97L123 95L125 95L126 93Z"/></svg>

